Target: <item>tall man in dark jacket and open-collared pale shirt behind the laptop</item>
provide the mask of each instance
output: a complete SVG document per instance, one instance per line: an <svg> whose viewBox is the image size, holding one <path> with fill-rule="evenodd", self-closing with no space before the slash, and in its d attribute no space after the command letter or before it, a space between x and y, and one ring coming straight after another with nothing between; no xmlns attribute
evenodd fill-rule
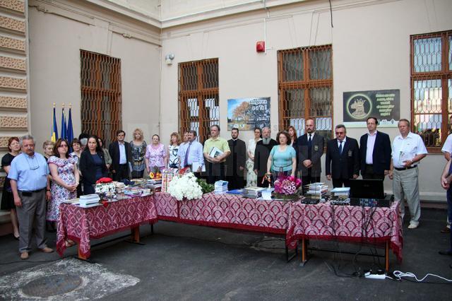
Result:
<svg viewBox="0 0 452 301"><path fill-rule="evenodd" d="M367 118L369 133L359 139L359 159L363 179L382 179L391 167L391 140L388 134L376 130L375 117Z"/></svg>

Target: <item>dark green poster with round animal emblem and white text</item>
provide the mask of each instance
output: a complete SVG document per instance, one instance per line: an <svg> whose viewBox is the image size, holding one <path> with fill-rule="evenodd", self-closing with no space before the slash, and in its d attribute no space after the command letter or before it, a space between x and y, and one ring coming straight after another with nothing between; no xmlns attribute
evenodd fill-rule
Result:
<svg viewBox="0 0 452 301"><path fill-rule="evenodd" d="M376 117L379 126L397 127L400 90L344 92L343 105L345 126L366 127L367 118Z"/></svg>

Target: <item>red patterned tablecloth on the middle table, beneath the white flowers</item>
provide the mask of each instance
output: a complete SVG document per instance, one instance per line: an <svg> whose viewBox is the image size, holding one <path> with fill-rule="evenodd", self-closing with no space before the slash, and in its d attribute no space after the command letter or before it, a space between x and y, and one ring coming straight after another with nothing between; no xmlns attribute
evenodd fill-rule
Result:
<svg viewBox="0 0 452 301"><path fill-rule="evenodd" d="M169 199L175 201L169 194L155 194L160 208L163 204L159 198L166 202ZM258 201L233 194L210 193L204 194L201 199L176 202L182 223L277 234L285 234L290 211L290 202ZM172 207L172 203L167 203L167 206ZM169 211L168 208L166 210Z"/></svg>

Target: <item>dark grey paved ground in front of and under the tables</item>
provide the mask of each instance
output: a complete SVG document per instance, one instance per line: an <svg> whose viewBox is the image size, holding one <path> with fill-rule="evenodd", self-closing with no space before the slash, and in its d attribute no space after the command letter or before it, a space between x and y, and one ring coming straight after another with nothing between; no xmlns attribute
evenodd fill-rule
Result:
<svg viewBox="0 0 452 301"><path fill-rule="evenodd" d="M418 278L434 273L452 279L452 256L437 252L448 247L449 235L441 234L446 211L424 209L421 225L408 230L404 225L403 263L391 254L391 269L410 271ZM96 240L111 240L126 232ZM299 257L285 262L282 237L259 233L241 233L177 223L159 222L155 234L150 226L141 227L141 242L131 244L116 240L93 247L91 261L100 267L139 282L112 293L101 294L102 300L451 300L452 283L412 283L410 281L372 280L351 276L355 271L383 266L383 259L312 252L307 265L300 266ZM55 235L49 233L49 245ZM20 261L17 241L11 235L0 237L0 283L18 271L48 268L59 256L34 252L28 262ZM310 247L342 251L374 252L357 244L337 244L311 240ZM381 253L383 250L378 249ZM66 256L76 254L73 247ZM4 264L15 261L11 264ZM42 266L39 266L42 265ZM87 269L88 270L88 269ZM335 271L335 272L334 272ZM61 271L64 273L63 271ZM25 273L26 274L26 273ZM336 276L338 274L338 276ZM105 281L114 281L105 278ZM438 278L427 281L446 283ZM5 282L5 281L4 281ZM111 285L111 283L109 283ZM11 290L0 285L0 300ZM20 289L16 285L14 290ZM98 288L85 288L96 290ZM114 293L113 293L114 292ZM95 293L95 292L94 292ZM95 294L91 294L91 298ZM105 293L105 292L104 292ZM89 295L89 294L84 294ZM23 298L23 297L19 297ZM71 300L66 296L56 299ZM27 298L25 298L27 299ZM77 298L75 298L77 299ZM74 300L75 300L74 299ZM31 300L31 299L30 299Z"/></svg>

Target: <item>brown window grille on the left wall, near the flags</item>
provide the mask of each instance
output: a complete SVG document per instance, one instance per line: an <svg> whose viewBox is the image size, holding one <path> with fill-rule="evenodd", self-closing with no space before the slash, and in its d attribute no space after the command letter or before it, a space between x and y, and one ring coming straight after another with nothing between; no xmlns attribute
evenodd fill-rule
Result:
<svg viewBox="0 0 452 301"><path fill-rule="evenodd" d="M121 60L81 50L82 132L114 141L121 121Z"/></svg>

